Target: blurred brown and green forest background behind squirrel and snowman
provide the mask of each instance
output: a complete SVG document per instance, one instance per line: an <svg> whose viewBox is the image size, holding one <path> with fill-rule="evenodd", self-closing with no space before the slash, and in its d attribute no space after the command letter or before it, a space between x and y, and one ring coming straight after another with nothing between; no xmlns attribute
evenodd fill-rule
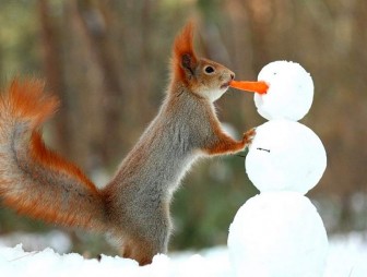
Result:
<svg viewBox="0 0 367 277"><path fill-rule="evenodd" d="M1 87L14 76L45 79L62 100L48 144L104 184L156 115L171 43L189 19L197 51L238 80L256 80L274 60L310 72L315 100L301 122L321 137L328 168L308 195L330 233L366 230L366 1L1 0ZM229 91L217 107L239 134L264 122L249 94ZM235 213L256 193L244 157L196 164L175 195L170 250L226 243ZM0 207L0 236L54 228ZM70 237L73 251L114 253L99 238Z"/></svg>

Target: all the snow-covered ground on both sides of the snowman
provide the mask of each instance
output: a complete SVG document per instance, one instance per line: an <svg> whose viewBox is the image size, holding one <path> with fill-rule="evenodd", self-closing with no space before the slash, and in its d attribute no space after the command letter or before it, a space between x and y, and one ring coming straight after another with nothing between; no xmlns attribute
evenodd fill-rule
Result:
<svg viewBox="0 0 367 277"><path fill-rule="evenodd" d="M157 255L153 264L139 267L134 261L118 256L103 255L100 261L85 260L74 253L58 254L51 249L25 252L22 245L17 245L0 246L0 276L230 277L234 274L226 246L217 246L200 253ZM366 276L367 236L350 233L330 238L330 253L324 277Z"/></svg>

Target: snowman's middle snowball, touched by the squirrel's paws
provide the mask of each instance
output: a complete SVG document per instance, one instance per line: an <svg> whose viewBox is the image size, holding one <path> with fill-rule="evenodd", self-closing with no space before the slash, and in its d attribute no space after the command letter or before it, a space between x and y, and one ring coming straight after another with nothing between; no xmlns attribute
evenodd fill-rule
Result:
<svg viewBox="0 0 367 277"><path fill-rule="evenodd" d="M327 154L312 130L295 121L271 120L256 132L245 166L261 192L306 194L319 182L327 168Z"/></svg>

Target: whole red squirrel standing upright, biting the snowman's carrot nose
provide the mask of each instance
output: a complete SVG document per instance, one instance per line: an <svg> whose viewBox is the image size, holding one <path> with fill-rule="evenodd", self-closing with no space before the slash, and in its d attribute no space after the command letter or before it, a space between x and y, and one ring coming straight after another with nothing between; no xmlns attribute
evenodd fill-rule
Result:
<svg viewBox="0 0 367 277"><path fill-rule="evenodd" d="M198 58L192 24L173 47L170 83L158 115L122 160L110 182L98 189L72 162L48 149L43 123L58 99L39 81L13 81L0 98L0 198L20 214L66 227L109 234L123 257L140 265L166 253L171 195L201 156L234 154L254 131L236 141L226 134L213 103L235 74Z"/></svg>

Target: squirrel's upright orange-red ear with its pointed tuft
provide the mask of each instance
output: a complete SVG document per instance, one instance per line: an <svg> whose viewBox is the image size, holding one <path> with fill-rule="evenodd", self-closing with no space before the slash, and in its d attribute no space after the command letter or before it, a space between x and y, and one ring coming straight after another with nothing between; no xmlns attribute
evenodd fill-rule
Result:
<svg viewBox="0 0 367 277"><path fill-rule="evenodd" d="M177 35L174 44L173 67L175 76L187 81L194 75L198 64L197 56L193 51L193 23L186 24L179 35Z"/></svg>

